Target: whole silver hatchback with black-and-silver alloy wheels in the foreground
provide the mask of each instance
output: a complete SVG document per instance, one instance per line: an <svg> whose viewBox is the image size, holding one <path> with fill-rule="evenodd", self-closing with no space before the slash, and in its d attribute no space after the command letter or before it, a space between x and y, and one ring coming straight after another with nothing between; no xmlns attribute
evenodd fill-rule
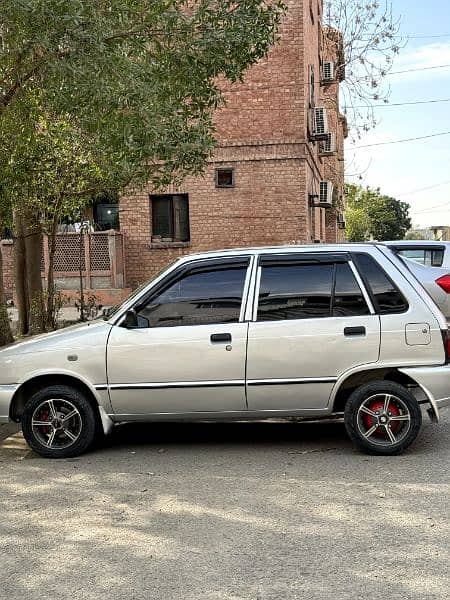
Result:
<svg viewBox="0 0 450 600"><path fill-rule="evenodd" d="M0 352L0 420L42 456L126 421L344 415L398 454L450 404L447 323L385 246L180 258L107 321Z"/></svg>

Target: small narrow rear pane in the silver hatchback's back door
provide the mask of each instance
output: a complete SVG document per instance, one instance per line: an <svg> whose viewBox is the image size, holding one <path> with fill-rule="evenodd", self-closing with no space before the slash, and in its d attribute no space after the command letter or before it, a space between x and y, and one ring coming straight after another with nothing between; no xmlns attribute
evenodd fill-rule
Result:
<svg viewBox="0 0 450 600"><path fill-rule="evenodd" d="M369 315L370 310L348 263L336 265L333 317Z"/></svg>

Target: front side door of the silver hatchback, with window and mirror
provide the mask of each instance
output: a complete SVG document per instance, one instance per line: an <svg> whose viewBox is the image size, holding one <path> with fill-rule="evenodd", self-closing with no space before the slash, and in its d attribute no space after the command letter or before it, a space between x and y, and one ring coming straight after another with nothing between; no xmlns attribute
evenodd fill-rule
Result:
<svg viewBox="0 0 450 600"><path fill-rule="evenodd" d="M137 301L137 326L113 327L107 365L116 414L246 409L250 262L244 256L185 264Z"/></svg>

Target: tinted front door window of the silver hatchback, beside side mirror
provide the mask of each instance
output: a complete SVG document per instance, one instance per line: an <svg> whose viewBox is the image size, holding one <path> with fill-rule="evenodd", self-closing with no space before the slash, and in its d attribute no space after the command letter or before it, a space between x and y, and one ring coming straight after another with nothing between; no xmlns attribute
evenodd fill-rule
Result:
<svg viewBox="0 0 450 600"><path fill-rule="evenodd" d="M236 323L247 267L223 266L187 272L138 311L140 327Z"/></svg>

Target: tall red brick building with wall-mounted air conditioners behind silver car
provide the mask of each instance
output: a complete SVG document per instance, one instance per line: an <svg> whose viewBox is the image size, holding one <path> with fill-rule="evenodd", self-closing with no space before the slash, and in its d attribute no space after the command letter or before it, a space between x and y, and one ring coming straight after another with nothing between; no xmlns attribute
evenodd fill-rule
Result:
<svg viewBox="0 0 450 600"><path fill-rule="evenodd" d="M134 288L185 253L343 239L342 41L322 27L322 0L285 3L278 44L243 83L224 86L218 146L204 176L164 193L149 188L123 197L120 234L85 243L85 286L96 295ZM69 259L79 257L77 242L67 235L57 241L56 280L76 287L70 273L79 266ZM5 283L11 250L3 246ZM115 301L125 292L110 291ZM108 294L101 297L108 302Z"/></svg>

